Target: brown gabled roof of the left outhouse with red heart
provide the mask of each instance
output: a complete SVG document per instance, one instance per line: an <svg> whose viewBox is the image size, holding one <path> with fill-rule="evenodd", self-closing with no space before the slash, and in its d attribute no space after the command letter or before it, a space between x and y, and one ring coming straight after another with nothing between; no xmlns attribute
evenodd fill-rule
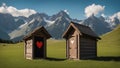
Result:
<svg viewBox="0 0 120 68"><path fill-rule="evenodd" d="M43 26L40 26L40 27L37 27L36 29L34 29L34 30L33 30L31 33L29 33L28 35L26 35L23 39L25 40L25 39L33 36L35 33L37 33L37 32L40 33L40 32L42 32L42 31L44 31L44 35L46 35L45 37L46 37L47 39L51 37L51 35L47 32L47 30L46 30Z"/></svg>

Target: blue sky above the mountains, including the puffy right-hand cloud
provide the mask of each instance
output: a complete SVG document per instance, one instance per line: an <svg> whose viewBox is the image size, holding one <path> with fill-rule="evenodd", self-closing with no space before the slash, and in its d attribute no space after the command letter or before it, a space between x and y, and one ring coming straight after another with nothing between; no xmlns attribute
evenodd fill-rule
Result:
<svg viewBox="0 0 120 68"><path fill-rule="evenodd" d="M15 10L31 9L33 13L46 13L50 16L67 10L71 18L79 20L89 17L92 13L96 16L114 16L120 12L120 0L0 0L0 6L3 3L14 7ZM3 9L0 10L2 11Z"/></svg>

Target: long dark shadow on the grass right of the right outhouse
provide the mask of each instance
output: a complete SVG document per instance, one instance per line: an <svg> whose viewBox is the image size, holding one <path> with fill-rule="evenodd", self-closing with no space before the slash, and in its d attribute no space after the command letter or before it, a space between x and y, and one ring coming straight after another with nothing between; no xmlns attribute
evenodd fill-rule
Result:
<svg viewBox="0 0 120 68"><path fill-rule="evenodd" d="M120 56L100 56L93 58L92 60L98 61L120 61Z"/></svg>

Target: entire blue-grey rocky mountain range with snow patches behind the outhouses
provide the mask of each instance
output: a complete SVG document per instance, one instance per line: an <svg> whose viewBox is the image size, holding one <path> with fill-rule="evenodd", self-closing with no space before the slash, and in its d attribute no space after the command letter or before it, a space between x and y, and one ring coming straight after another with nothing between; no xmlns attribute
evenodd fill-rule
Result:
<svg viewBox="0 0 120 68"><path fill-rule="evenodd" d="M84 20L72 19L64 10L48 16L45 13L35 13L29 17L14 17L8 13L0 13L0 38L5 40L20 41L36 27L44 26L54 39L61 39L61 35L71 21L91 27L98 35L114 29L120 21L115 18L109 21L103 16L91 15Z"/></svg>

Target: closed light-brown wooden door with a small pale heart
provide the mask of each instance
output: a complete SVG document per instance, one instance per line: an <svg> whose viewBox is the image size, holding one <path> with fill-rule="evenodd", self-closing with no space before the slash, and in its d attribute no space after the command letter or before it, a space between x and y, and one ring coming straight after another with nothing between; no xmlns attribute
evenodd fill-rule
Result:
<svg viewBox="0 0 120 68"><path fill-rule="evenodd" d="M77 59L77 39L76 36L71 36L69 39L69 58Z"/></svg>

